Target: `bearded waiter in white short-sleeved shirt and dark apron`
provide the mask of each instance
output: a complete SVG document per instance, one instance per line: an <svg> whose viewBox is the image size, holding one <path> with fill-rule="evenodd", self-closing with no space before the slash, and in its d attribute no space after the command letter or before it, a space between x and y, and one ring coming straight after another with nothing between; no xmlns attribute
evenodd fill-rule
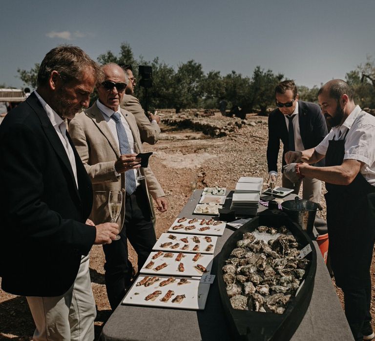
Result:
<svg viewBox="0 0 375 341"><path fill-rule="evenodd" d="M345 315L355 340L372 340L370 265L375 237L375 117L354 104L353 90L333 79L318 92L331 132L315 148L287 152L284 174L294 181L326 182L330 256L344 292ZM326 158L326 167L309 164ZM303 163L299 163L303 162Z"/></svg>

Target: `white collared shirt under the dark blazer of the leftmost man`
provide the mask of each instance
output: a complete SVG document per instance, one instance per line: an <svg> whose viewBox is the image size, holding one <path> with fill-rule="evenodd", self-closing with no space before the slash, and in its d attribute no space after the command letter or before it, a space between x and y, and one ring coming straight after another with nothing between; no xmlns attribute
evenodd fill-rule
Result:
<svg viewBox="0 0 375 341"><path fill-rule="evenodd" d="M55 128L55 131L61 140L62 146L64 147L66 155L68 156L70 166L72 167L74 179L76 180L76 185L78 188L76 159L74 157L73 148L66 136L66 122L58 114L56 114L56 112L45 102L45 100L37 93L36 90L34 93L41 102L43 109L47 113L47 116L53 125L53 128Z"/></svg>

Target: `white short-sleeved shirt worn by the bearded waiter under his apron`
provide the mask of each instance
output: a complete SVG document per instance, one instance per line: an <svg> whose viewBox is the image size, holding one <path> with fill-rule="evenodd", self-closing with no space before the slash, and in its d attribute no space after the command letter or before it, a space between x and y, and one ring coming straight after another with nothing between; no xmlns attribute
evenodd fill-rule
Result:
<svg viewBox="0 0 375 341"><path fill-rule="evenodd" d="M348 134L345 137L345 134ZM345 138L344 160L352 159L364 163L361 174L375 186L375 117L362 111L359 105L349 114L341 126L331 132L315 147L315 151L325 155L330 140Z"/></svg>

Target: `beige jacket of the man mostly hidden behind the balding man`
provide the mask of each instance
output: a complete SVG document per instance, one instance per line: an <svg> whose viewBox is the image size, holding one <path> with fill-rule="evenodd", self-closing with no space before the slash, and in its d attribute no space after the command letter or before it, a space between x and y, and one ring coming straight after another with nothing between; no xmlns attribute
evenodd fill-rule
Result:
<svg viewBox="0 0 375 341"><path fill-rule="evenodd" d="M158 142L160 127L156 122L150 122L137 97L124 95L120 106L135 116L142 142L147 142L150 145Z"/></svg>

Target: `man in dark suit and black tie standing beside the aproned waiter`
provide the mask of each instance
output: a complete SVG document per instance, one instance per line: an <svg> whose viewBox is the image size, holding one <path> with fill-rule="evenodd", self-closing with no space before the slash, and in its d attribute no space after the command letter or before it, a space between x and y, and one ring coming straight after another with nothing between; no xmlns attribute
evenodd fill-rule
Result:
<svg viewBox="0 0 375 341"><path fill-rule="evenodd" d="M292 80L284 80L275 88L275 103L277 109L268 118L267 163L269 180L276 177L277 158L280 140L284 150L282 166L285 166L284 155L288 151L303 151L320 143L327 135L327 125L317 104L298 100L297 87ZM283 174L282 186L294 189L298 194L303 183L303 199L320 202L321 182L314 178L303 178L295 183L289 181Z"/></svg>

